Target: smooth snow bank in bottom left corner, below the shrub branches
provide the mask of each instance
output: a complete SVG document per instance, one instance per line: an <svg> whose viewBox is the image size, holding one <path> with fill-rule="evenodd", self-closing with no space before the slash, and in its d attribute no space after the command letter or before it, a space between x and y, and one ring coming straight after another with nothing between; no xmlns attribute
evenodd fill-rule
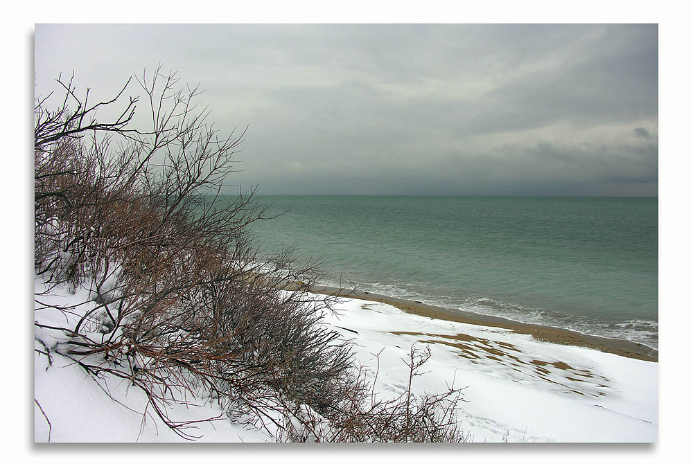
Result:
<svg viewBox="0 0 693 466"><path fill-rule="evenodd" d="M105 384L88 375L66 357L55 355L49 366L46 357L34 358L35 399L34 440L45 442L178 442L183 439L151 413L143 416L147 397L125 381ZM108 391L108 393L107 393ZM110 395L110 396L109 396ZM115 399L113 400L112 397ZM171 405L168 415L175 421L208 419L222 415L214 404ZM186 431L204 442L264 442L261 431L243 429L231 422L203 422Z"/></svg>

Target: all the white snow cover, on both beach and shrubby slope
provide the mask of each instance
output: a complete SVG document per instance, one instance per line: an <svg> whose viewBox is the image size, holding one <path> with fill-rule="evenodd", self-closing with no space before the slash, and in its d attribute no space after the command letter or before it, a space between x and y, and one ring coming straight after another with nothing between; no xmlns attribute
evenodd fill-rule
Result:
<svg viewBox="0 0 693 466"><path fill-rule="evenodd" d="M39 291L42 282L35 285ZM87 299L85 290L70 294L66 287L42 297L44 303ZM367 376L372 380L377 372L378 397L391 399L406 390L404 360L412 345L428 345L432 356L422 368L426 373L415 377L413 390L464 388L459 419L474 442L658 440L657 363L536 341L511 330L429 319L371 301L343 299L337 310L324 325L353 340ZM35 319L51 325L54 314L39 311ZM55 331L36 332L48 345L60 339ZM35 348L41 350L42 343L36 341ZM71 359L52 354L49 364L35 352L36 442L46 442L49 434L51 442L185 441L155 415L143 415L147 398L139 388L123 379L94 379ZM199 441L272 441L266 432L232 424L216 402L204 397L191 402L198 406L173 404L168 415L181 421L220 418L188 431Z"/></svg>

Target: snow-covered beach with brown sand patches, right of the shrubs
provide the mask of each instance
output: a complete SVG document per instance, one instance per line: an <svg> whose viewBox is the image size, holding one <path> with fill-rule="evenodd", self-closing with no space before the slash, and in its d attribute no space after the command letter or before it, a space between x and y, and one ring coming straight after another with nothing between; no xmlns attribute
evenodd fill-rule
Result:
<svg viewBox="0 0 693 466"><path fill-rule="evenodd" d="M509 442L658 440L658 363L382 303L350 299L339 309L330 325L355 339L371 373L380 353L376 389L382 396L401 393L407 384L402 359L412 344L428 342L428 373L414 379L414 390L440 393L453 381L466 387L459 417L475 442L500 442L504 435Z"/></svg>

